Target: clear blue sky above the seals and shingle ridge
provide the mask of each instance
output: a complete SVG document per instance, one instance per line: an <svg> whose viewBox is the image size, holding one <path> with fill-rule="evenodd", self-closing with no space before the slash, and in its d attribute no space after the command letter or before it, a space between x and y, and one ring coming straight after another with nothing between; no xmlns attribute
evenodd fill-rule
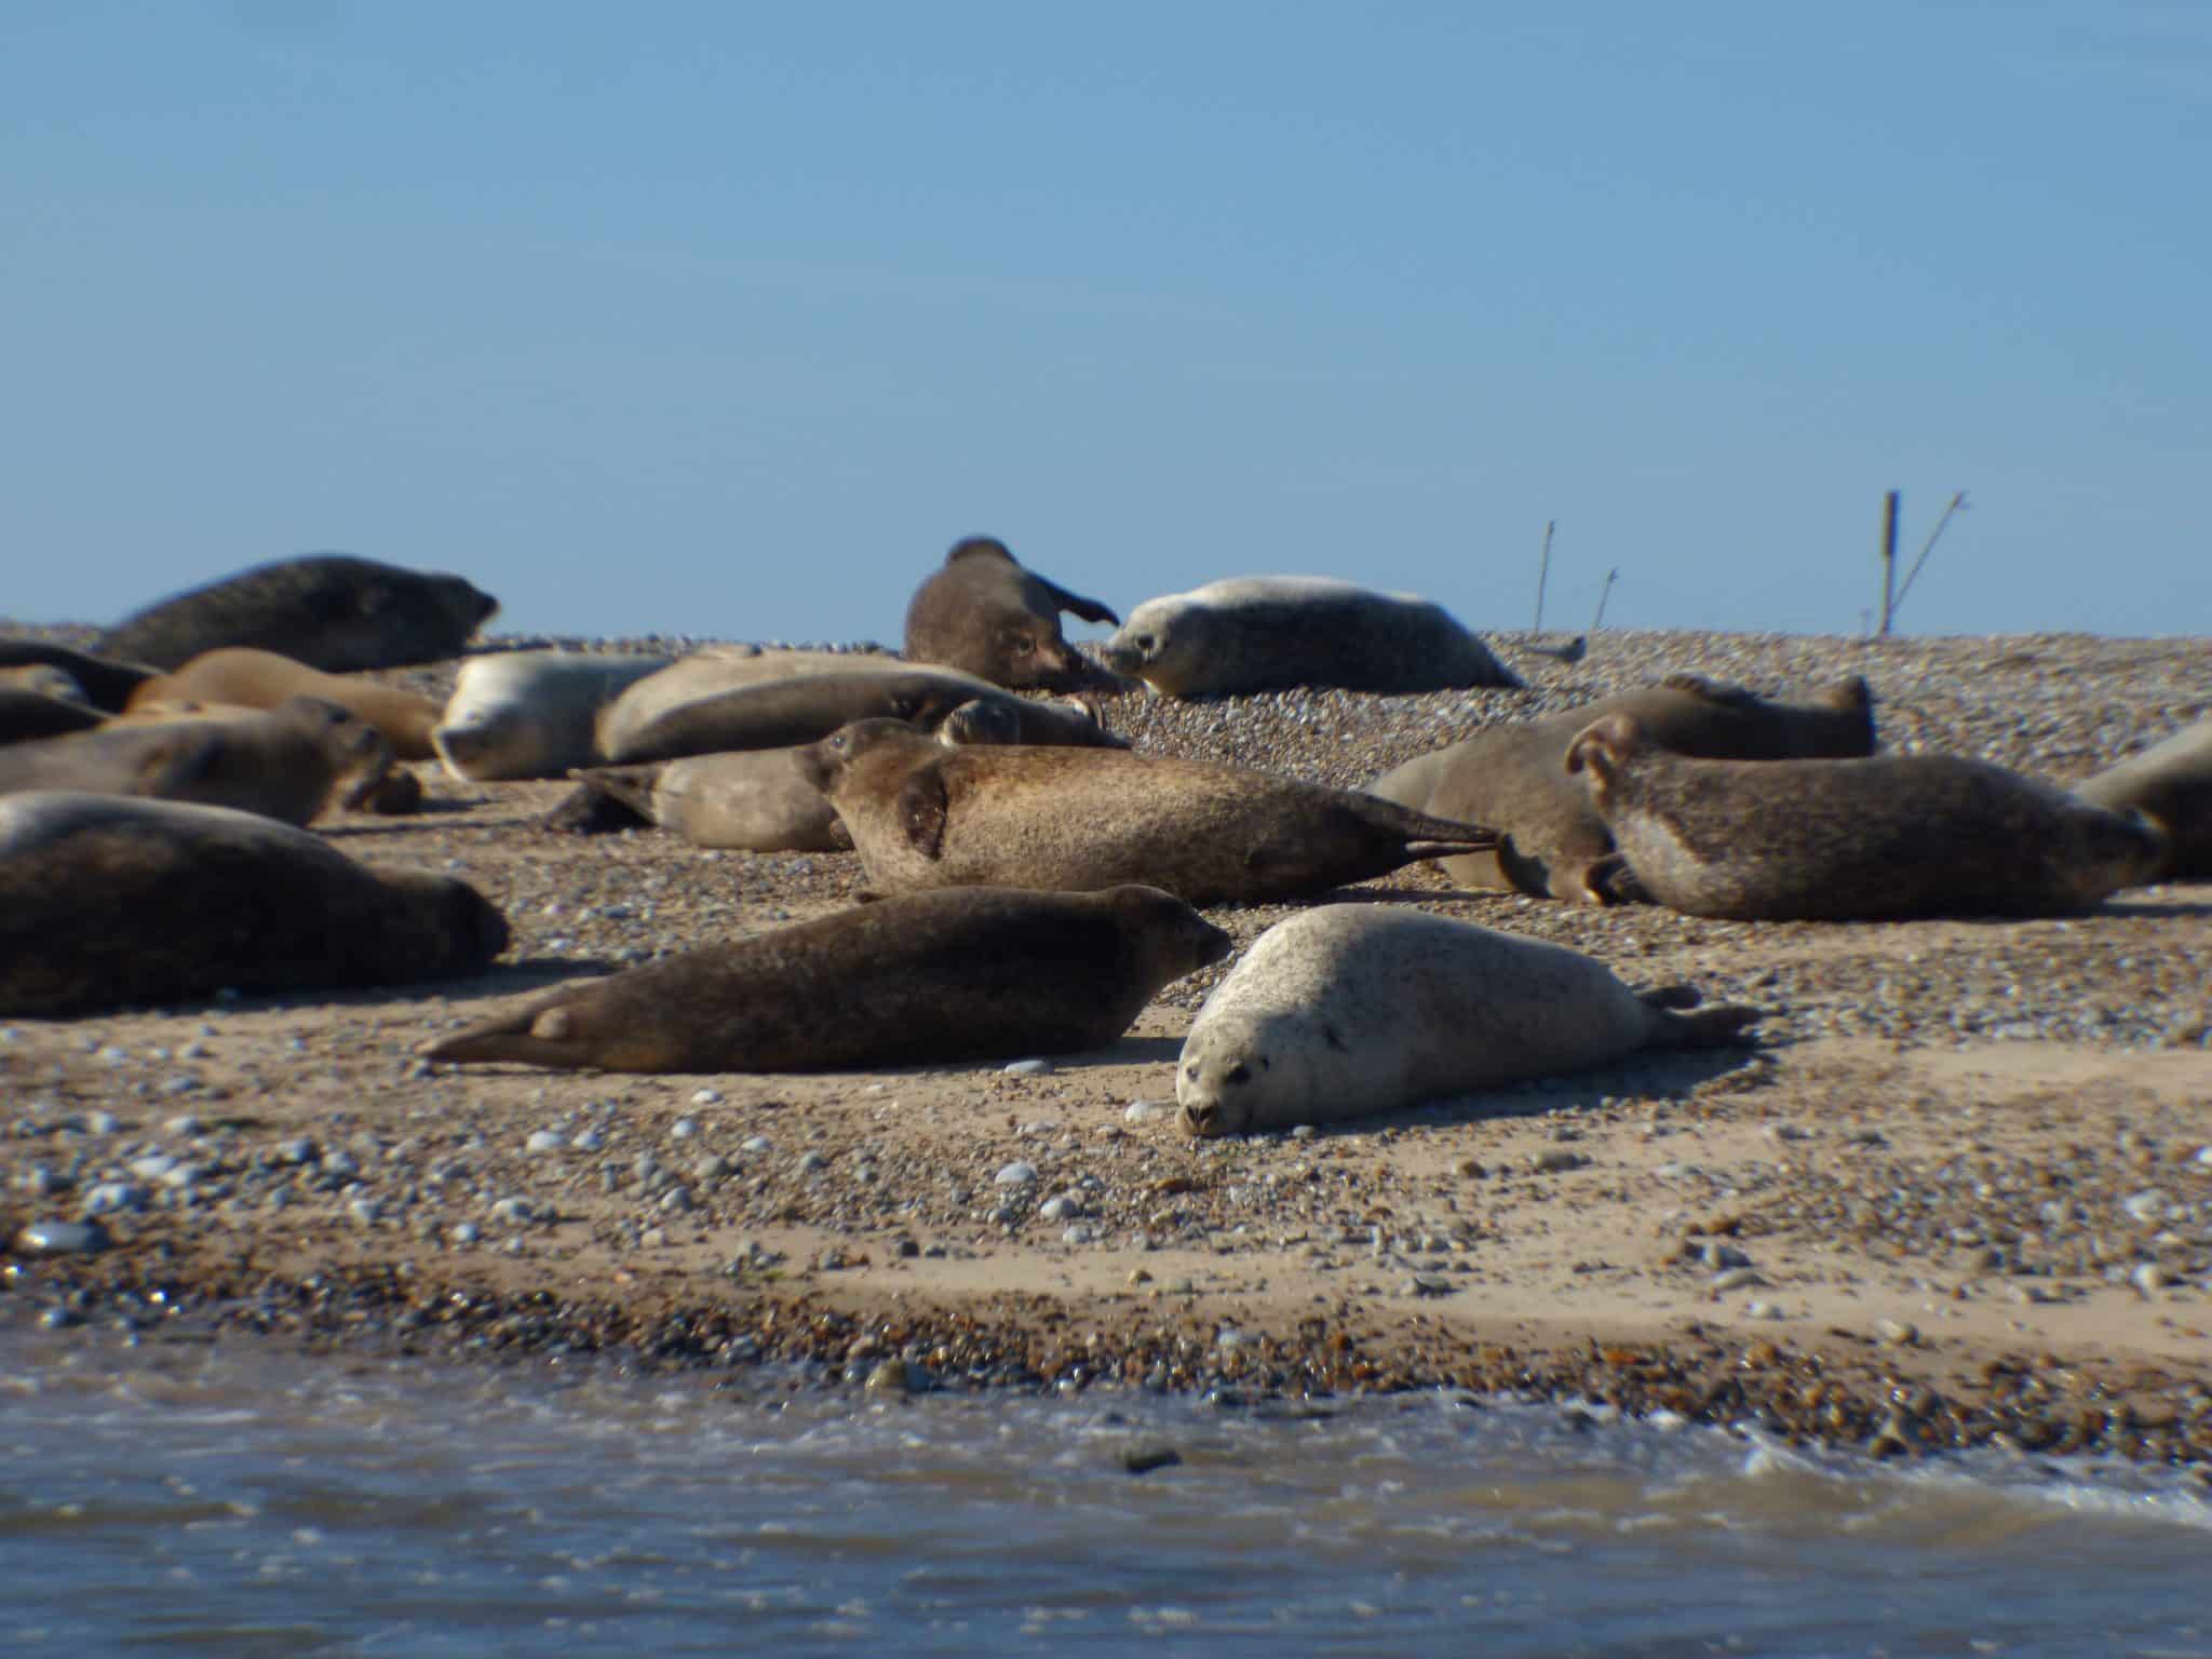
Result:
<svg viewBox="0 0 2212 1659"><path fill-rule="evenodd" d="M0 7L0 615L2212 633L2212 7ZM1071 624L1077 637L1093 630Z"/></svg>

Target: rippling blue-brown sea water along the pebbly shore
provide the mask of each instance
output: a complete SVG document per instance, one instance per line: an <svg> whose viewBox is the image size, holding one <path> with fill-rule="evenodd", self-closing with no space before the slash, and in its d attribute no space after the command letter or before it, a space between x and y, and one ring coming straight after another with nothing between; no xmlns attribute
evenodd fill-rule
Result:
<svg viewBox="0 0 2212 1659"><path fill-rule="evenodd" d="M0 1650L2212 1655L2174 1471L126 1340L0 1329Z"/></svg>

